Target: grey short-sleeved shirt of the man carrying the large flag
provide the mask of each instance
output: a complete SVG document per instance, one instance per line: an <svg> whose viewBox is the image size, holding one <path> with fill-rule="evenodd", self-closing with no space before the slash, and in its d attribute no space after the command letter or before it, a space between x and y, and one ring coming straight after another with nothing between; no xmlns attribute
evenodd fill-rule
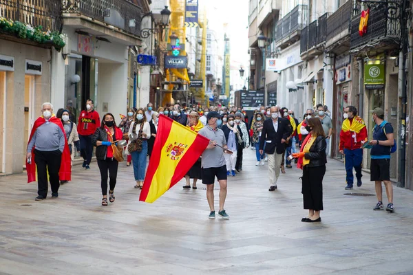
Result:
<svg viewBox="0 0 413 275"><path fill-rule="evenodd" d="M225 135L221 129L217 128L214 130L207 125L199 131L199 134L207 137L212 142L217 142L220 146L226 145ZM215 146L212 149L205 149L204 153L202 153L202 168L221 167L224 165L224 150L222 148Z"/></svg>

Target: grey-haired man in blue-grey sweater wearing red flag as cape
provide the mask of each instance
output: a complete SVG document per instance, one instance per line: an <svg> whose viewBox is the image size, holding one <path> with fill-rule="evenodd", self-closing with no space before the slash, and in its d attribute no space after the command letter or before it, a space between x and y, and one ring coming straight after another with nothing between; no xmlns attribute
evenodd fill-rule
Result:
<svg viewBox="0 0 413 275"><path fill-rule="evenodd" d="M41 201L47 196L47 172L49 173L52 197L58 197L59 178L70 181L71 158L65 129L59 118L53 114L53 105L49 102L42 104L42 116L33 125L30 133L26 170L28 183L36 181L38 177L38 197Z"/></svg>

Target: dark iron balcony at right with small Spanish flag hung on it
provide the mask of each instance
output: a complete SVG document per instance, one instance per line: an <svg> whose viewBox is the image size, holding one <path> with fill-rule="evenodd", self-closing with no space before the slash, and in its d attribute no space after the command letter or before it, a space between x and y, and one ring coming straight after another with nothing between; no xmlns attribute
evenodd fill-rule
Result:
<svg viewBox="0 0 413 275"><path fill-rule="evenodd" d="M400 24L398 19L389 18L391 12L394 12L394 10L387 10L385 5L371 8L367 32L363 36L359 34L360 14L353 17L351 21L350 50L359 52L363 48L374 47L374 49L388 50L397 47L400 41Z"/></svg>

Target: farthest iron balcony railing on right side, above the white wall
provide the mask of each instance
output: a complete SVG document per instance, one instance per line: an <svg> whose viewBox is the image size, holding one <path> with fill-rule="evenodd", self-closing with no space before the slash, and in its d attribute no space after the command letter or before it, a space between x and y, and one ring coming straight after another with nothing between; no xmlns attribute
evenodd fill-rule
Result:
<svg viewBox="0 0 413 275"><path fill-rule="evenodd" d="M288 14L277 22L275 26L275 43L286 38L293 32L301 30L306 25L306 10L306 5L297 5L291 12L288 12Z"/></svg>

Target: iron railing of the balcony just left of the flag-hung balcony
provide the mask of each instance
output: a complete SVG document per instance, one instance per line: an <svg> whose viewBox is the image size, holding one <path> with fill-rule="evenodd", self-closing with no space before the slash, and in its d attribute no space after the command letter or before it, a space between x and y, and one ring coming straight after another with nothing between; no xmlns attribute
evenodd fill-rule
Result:
<svg viewBox="0 0 413 275"><path fill-rule="evenodd" d="M350 30L351 3L352 1L347 1L327 18L326 41L333 39L345 30L347 32Z"/></svg>

